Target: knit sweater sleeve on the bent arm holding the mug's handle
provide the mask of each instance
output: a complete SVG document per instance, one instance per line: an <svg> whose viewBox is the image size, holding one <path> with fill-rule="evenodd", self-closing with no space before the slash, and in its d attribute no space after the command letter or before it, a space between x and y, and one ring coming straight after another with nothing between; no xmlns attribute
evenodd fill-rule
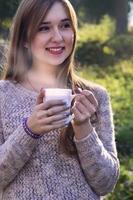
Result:
<svg viewBox="0 0 133 200"><path fill-rule="evenodd" d="M75 139L79 161L86 180L100 196L111 192L119 177L119 161L109 95L102 90L98 126L86 138Z"/></svg>

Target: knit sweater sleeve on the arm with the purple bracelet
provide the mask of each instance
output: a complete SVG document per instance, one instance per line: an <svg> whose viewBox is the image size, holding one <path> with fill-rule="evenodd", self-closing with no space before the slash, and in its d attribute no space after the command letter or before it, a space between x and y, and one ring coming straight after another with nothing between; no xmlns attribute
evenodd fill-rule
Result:
<svg viewBox="0 0 133 200"><path fill-rule="evenodd" d="M0 115L0 191L15 178L29 160L36 144L37 140L27 135L22 125L4 142Z"/></svg>

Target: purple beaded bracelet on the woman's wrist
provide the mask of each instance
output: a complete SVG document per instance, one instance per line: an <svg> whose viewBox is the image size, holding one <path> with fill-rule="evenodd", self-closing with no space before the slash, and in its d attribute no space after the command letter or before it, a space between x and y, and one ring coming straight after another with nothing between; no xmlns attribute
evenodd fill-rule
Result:
<svg viewBox="0 0 133 200"><path fill-rule="evenodd" d="M28 117L23 118L23 128L24 128L25 132L26 132L29 136L31 136L32 138L34 138L34 139L41 138L42 135L39 135L39 134L34 133L34 132L27 126L27 120L28 120Z"/></svg>

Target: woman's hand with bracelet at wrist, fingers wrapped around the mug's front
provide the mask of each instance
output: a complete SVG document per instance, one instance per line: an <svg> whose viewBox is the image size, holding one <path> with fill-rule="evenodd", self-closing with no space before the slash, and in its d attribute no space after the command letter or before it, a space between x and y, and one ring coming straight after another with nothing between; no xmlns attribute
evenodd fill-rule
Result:
<svg viewBox="0 0 133 200"><path fill-rule="evenodd" d="M62 100L45 102L45 91L41 90L36 106L28 118L28 127L36 134L44 134L51 130L62 128L68 124L70 108Z"/></svg>

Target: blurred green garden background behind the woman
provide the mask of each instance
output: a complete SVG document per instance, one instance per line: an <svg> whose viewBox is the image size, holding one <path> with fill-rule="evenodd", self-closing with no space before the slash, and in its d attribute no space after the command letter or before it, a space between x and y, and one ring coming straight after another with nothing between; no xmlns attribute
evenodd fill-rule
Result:
<svg viewBox="0 0 133 200"><path fill-rule="evenodd" d="M20 0L0 3L0 74L12 17ZM132 1L71 0L79 19L77 73L110 93L121 173L106 200L133 200L133 28Z"/></svg>

